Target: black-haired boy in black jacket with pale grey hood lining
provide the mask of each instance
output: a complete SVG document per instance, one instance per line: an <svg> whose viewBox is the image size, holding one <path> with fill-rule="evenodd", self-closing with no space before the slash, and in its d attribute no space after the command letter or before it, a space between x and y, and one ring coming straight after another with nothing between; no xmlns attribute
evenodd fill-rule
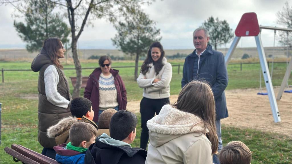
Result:
<svg viewBox="0 0 292 164"><path fill-rule="evenodd" d="M111 137L103 133L96 138L86 151L85 164L144 164L147 151L132 148L131 143L136 137L137 117L135 114L120 110L110 121Z"/></svg>

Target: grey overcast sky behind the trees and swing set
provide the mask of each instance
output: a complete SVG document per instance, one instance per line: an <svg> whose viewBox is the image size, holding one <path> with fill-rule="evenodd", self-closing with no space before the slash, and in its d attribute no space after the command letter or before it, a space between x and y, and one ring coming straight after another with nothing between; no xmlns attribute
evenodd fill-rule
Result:
<svg viewBox="0 0 292 164"><path fill-rule="evenodd" d="M208 17L227 20L233 31L246 12L255 12L260 25L277 26L276 13L282 10L286 0L157 0L150 6L142 6L150 19L157 22L161 30L161 43L165 49L193 49L192 32ZM291 0L290 0L291 5ZM0 6L0 48L25 48L15 28L13 6ZM17 18L22 21L23 18ZM67 21L67 19L65 20ZM80 49L116 49L111 38L116 34L114 27L104 19L93 22L94 26L84 28L78 42ZM262 31L263 46L273 46L274 31ZM227 44L229 48L230 44ZM242 37L238 47L256 47L254 37ZM276 46L279 44L276 41ZM223 46L225 47L225 46Z"/></svg>

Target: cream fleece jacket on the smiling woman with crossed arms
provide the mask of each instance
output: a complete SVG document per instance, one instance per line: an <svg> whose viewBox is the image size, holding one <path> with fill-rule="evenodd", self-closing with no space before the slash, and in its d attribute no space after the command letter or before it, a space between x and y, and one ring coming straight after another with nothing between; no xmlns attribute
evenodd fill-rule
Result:
<svg viewBox="0 0 292 164"><path fill-rule="evenodd" d="M167 62L165 57L163 57L162 64L164 65L159 71L159 74L156 74L154 65L150 63L148 66L151 68L146 75L140 73L137 78L138 86L140 88L144 88L143 97L149 99L163 99L170 96L169 83L172 77L172 67L171 64ZM155 78L160 79L160 81L153 83Z"/></svg>

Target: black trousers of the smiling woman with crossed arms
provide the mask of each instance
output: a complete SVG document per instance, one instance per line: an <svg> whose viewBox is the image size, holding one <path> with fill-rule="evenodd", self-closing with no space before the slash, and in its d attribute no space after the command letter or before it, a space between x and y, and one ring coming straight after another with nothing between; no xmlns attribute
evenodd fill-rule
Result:
<svg viewBox="0 0 292 164"><path fill-rule="evenodd" d="M159 114L162 106L170 104L169 97L164 99L148 99L143 97L140 102L140 113L141 113L141 137L140 137L140 148L145 149L148 144L149 130L147 128L147 121Z"/></svg>

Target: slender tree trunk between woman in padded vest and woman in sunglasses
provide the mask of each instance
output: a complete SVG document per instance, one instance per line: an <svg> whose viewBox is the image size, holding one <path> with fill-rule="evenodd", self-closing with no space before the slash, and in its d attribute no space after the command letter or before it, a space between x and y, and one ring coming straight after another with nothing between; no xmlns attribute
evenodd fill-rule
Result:
<svg viewBox="0 0 292 164"><path fill-rule="evenodd" d="M82 83L82 70L81 70L81 64L78 59L77 55L77 41L72 39L72 55L73 55L73 60L74 60L74 65L76 69L76 75L77 75L77 82L76 85L74 86L72 98L76 98L80 96L80 88L81 88L81 83Z"/></svg>

